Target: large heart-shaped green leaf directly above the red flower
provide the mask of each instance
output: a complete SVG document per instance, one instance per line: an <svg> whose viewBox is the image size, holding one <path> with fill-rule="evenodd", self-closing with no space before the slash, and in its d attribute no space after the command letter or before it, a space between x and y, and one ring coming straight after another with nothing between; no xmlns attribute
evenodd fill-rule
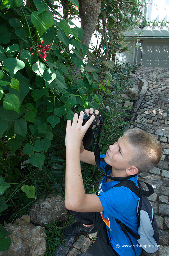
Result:
<svg viewBox="0 0 169 256"><path fill-rule="evenodd" d="M47 12L40 14L38 12L32 12L31 21L37 29L39 36L42 36L45 30L53 25L53 17Z"/></svg>

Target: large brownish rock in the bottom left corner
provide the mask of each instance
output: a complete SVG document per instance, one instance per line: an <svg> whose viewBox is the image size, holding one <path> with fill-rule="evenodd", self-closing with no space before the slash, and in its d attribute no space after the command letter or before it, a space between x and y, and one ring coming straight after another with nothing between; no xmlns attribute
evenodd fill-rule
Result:
<svg viewBox="0 0 169 256"><path fill-rule="evenodd" d="M45 254L45 228L35 226L25 220L17 219L14 224L4 226L10 232L11 245L0 256L43 256Z"/></svg>

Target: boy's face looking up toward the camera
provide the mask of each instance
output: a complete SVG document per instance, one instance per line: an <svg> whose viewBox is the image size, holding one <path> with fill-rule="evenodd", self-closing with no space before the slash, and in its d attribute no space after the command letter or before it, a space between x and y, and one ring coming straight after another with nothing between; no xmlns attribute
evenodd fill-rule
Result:
<svg viewBox="0 0 169 256"><path fill-rule="evenodd" d="M131 153L132 148L123 136L116 143L109 146L104 160L106 164L112 166L112 171L125 171L131 166L129 164Z"/></svg>

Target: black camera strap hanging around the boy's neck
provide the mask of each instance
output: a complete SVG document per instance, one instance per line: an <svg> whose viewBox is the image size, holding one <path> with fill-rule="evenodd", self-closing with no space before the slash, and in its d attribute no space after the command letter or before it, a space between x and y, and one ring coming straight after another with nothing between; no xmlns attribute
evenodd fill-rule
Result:
<svg viewBox="0 0 169 256"><path fill-rule="evenodd" d="M101 133L101 129L102 129L102 125L103 125L103 119L101 116L99 116L100 119L100 126L98 126L98 135L97 135L97 141L95 144L95 149L94 149L94 154L95 154L95 163L97 166L97 169L109 180L115 180L115 181L124 181L124 180L128 180L132 177L134 177L135 175L130 175L130 176L125 176L125 177L113 177L110 175L107 175L105 173L102 172L101 167L100 167L100 147L99 147L99 140L100 140L100 133Z"/></svg>

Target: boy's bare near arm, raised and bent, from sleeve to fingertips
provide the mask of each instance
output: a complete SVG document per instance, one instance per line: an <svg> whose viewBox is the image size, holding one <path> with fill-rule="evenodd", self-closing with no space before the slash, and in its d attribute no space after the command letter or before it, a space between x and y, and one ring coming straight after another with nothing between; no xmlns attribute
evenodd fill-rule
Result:
<svg viewBox="0 0 169 256"><path fill-rule="evenodd" d="M103 207L100 199L95 194L85 194L81 174L80 150L81 141L88 127L94 120L94 116L85 125L83 112L79 119L74 114L73 123L67 121L66 130L66 176L65 176L65 206L68 210L76 212L101 212Z"/></svg>

